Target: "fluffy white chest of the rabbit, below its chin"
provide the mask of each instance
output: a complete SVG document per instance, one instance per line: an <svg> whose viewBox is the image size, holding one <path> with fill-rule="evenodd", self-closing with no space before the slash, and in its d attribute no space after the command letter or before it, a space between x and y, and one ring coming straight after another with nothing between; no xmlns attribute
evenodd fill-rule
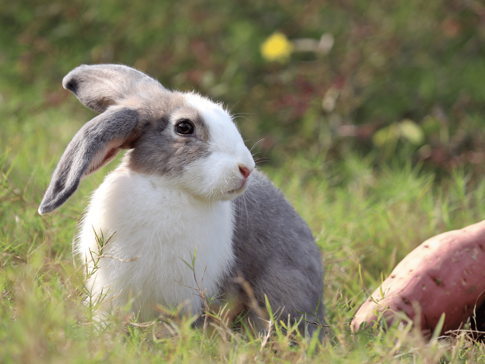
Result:
<svg viewBox="0 0 485 364"><path fill-rule="evenodd" d="M85 215L77 249L81 257L97 252L93 226L103 233L103 254L134 262L101 258L90 283L93 294L111 290L115 305L132 300L139 319L153 318L156 305L192 305L200 309L200 290L216 294L234 256L233 210L230 201L203 202L163 180L131 172L122 166L107 176L95 192ZM192 265L194 272L185 262ZM194 279L195 273L195 279Z"/></svg>

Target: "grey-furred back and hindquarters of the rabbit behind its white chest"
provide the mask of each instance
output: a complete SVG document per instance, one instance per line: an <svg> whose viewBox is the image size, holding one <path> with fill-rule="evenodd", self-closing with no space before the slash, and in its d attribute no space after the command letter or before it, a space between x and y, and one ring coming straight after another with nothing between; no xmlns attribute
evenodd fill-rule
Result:
<svg viewBox="0 0 485 364"><path fill-rule="evenodd" d="M307 223L291 207L281 192L261 173L255 173L247 190L233 200L235 232L233 248L236 263L229 278L222 284L228 296L236 292L249 310L248 297L242 286L231 283L237 272L254 290L259 306L264 308L267 295L273 311L286 321L307 313L313 321L313 311L323 299L322 255ZM232 290L232 291L231 291ZM316 312L323 323L323 303ZM250 312L253 322L258 322ZM305 332L305 324L300 328ZM315 327L307 326L308 333Z"/></svg>

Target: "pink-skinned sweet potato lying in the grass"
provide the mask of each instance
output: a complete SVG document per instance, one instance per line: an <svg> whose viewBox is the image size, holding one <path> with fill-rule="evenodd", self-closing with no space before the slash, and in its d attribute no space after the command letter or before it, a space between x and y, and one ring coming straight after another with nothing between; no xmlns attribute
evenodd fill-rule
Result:
<svg viewBox="0 0 485 364"><path fill-rule="evenodd" d="M357 331L364 322L369 326L377 320L376 313L388 306L384 317L388 325L395 316L392 312L404 312L415 321L412 302L421 308L422 331L435 330L445 313L441 334L456 330L480 307L485 300L485 220L461 230L436 235L411 251L372 293L374 303L368 298L352 320ZM377 311L376 311L377 310ZM416 322L416 321L415 321Z"/></svg>

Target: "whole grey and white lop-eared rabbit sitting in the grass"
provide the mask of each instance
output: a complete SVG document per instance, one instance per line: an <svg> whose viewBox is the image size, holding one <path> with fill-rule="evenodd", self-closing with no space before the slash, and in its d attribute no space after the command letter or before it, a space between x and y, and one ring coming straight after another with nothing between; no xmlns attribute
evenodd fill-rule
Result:
<svg viewBox="0 0 485 364"><path fill-rule="evenodd" d="M100 114L65 149L41 215L128 149L92 195L74 240L93 268L99 249L93 229L105 242L112 235L102 250L108 257L88 280L93 295L106 295L110 307L131 304L141 321L157 318L157 304L186 303L200 314L205 290L206 297L232 299L236 314L246 313L258 330L265 297L285 322L301 313L324 322L322 258L312 233L255 169L220 103L170 91L123 65L78 66L63 86ZM191 288L197 284L199 291ZM306 320L298 327L308 334L315 328Z"/></svg>

